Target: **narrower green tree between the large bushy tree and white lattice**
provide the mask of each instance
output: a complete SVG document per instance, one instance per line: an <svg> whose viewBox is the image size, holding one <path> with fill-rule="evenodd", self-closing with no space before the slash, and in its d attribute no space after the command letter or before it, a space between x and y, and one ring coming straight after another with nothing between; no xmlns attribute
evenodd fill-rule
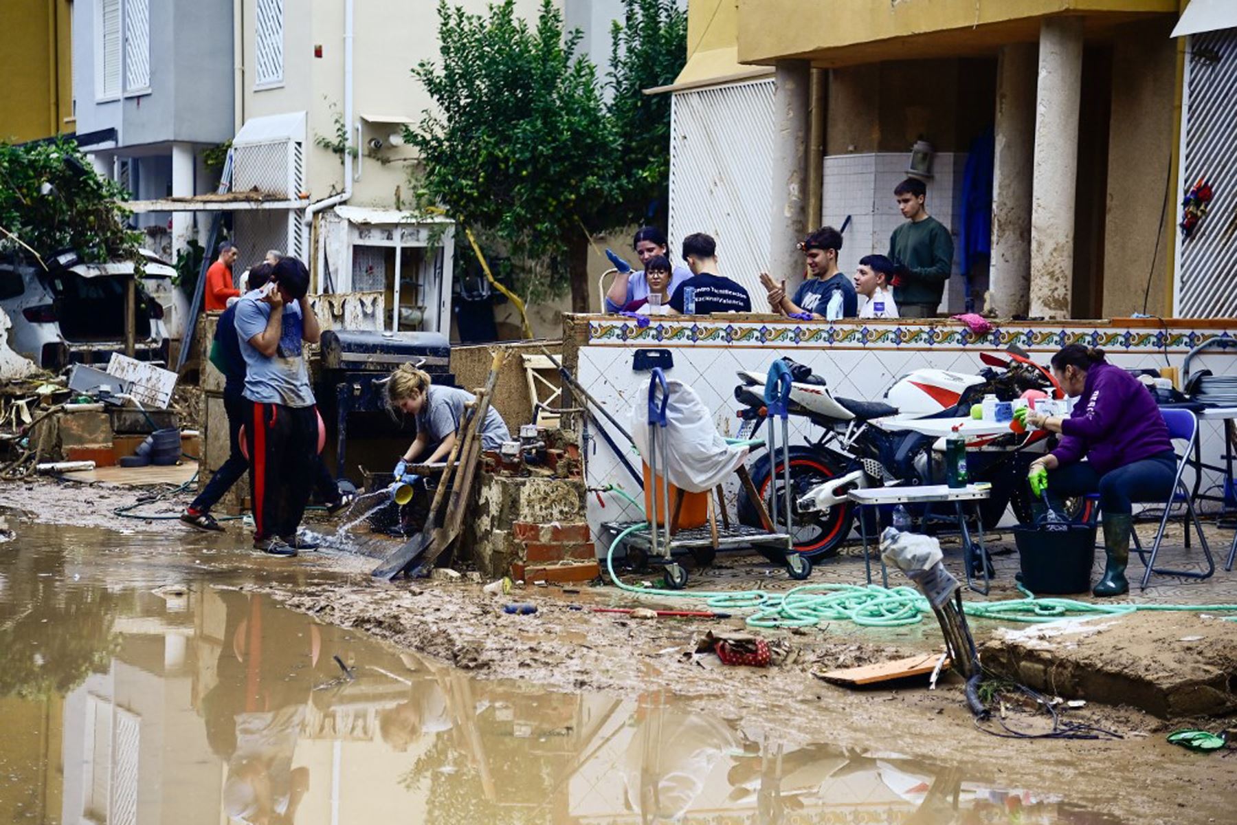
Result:
<svg viewBox="0 0 1237 825"><path fill-rule="evenodd" d="M604 229L664 226L670 182L670 95L688 56L688 16L673 0L623 0L610 35L610 118L618 137L615 199Z"/></svg>

